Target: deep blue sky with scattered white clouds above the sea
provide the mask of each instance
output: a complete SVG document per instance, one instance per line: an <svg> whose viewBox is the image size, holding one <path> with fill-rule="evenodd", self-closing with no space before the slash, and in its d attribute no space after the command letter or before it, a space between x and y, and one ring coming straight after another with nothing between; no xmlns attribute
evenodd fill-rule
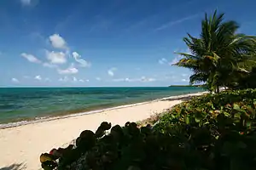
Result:
<svg viewBox="0 0 256 170"><path fill-rule="evenodd" d="M0 0L0 87L189 84L172 65L215 9L255 35L253 0Z"/></svg>

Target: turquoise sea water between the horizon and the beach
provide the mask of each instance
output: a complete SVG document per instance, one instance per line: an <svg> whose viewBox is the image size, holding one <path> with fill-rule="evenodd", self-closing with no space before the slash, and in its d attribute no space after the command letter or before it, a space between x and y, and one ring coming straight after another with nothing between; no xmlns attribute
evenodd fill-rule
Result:
<svg viewBox="0 0 256 170"><path fill-rule="evenodd" d="M202 88L0 88L0 123L94 111ZM139 114L139 113L138 113Z"/></svg>

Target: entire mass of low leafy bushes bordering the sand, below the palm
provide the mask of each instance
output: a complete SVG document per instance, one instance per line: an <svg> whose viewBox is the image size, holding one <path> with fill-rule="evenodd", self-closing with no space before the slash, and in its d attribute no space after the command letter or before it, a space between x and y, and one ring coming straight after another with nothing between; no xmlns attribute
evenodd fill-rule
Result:
<svg viewBox="0 0 256 170"><path fill-rule="evenodd" d="M207 94L175 106L154 127L102 122L40 161L44 169L253 169L255 97L256 90Z"/></svg>

